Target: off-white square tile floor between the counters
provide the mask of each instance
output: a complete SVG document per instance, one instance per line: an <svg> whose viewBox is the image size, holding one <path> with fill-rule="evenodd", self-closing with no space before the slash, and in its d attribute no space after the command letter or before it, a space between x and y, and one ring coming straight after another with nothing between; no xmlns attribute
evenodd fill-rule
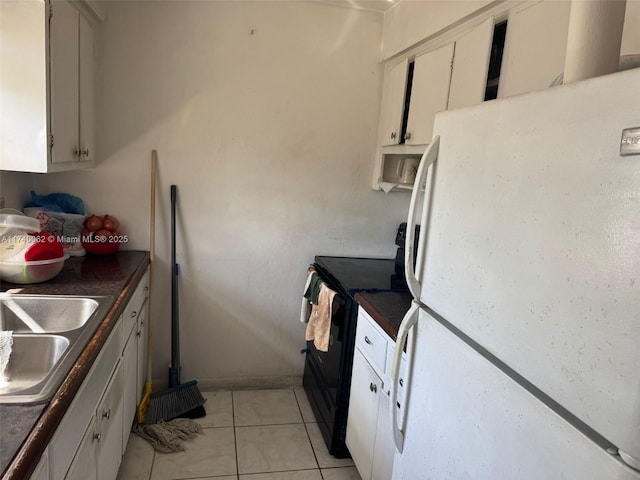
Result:
<svg viewBox="0 0 640 480"><path fill-rule="evenodd" d="M360 480L329 455L302 388L203 395L203 434L170 454L131 434L118 480Z"/></svg>

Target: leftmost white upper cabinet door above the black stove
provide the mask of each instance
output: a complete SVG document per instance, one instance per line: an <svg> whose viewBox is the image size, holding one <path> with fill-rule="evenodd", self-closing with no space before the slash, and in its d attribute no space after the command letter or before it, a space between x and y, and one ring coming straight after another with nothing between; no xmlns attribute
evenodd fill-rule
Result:
<svg viewBox="0 0 640 480"><path fill-rule="evenodd" d="M380 145L400 143L408 66L408 60L403 60L387 70L380 109Z"/></svg>

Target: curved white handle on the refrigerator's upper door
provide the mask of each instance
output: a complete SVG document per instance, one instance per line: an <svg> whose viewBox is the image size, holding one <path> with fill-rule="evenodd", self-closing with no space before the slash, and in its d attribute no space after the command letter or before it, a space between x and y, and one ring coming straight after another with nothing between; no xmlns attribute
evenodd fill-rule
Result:
<svg viewBox="0 0 640 480"><path fill-rule="evenodd" d="M418 200L420 199L420 192L422 190L422 185L427 181L427 175L429 173L429 169L431 165L433 165L438 159L438 150L440 148L440 136L436 135L434 139L431 141L429 147L425 150L422 158L420 159L420 164L418 166L418 172L416 173L416 181L413 184L413 191L411 192L411 202L409 203L409 214L407 216L407 233L406 233L406 241L404 248L404 271L405 277L407 279L407 285L409 286L409 290L411 291L411 295L413 298L420 299L420 291L422 290L422 260L424 258L424 249L427 238L427 214L428 208L425 204L422 206L422 215L421 215L421 226L422 232L421 236L424 241L418 244L418 262L416 268L414 269L414 249L415 249L415 241L416 241L416 210L418 209ZM426 200L428 191L427 186L425 185L425 193L424 198Z"/></svg>

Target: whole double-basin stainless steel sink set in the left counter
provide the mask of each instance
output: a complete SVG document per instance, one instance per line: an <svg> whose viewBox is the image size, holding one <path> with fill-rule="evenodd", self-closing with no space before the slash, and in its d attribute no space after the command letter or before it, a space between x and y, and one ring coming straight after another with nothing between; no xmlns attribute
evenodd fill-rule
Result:
<svg viewBox="0 0 640 480"><path fill-rule="evenodd" d="M0 294L0 330L14 332L0 403L49 400L112 303L112 297Z"/></svg>

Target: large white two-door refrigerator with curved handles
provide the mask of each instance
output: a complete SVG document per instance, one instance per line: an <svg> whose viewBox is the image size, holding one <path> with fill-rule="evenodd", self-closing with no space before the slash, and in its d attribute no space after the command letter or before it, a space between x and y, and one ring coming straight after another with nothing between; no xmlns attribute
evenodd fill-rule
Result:
<svg viewBox="0 0 640 480"><path fill-rule="evenodd" d="M393 479L640 479L638 127L640 69L436 116Z"/></svg>

